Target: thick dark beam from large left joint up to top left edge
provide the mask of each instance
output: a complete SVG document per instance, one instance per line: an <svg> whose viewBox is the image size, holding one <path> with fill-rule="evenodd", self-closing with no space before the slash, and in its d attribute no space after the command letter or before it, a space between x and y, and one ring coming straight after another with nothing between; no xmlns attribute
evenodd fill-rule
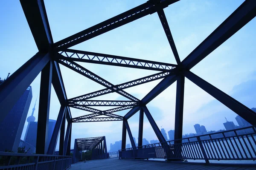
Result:
<svg viewBox="0 0 256 170"><path fill-rule="evenodd" d="M20 0L29 28L39 51L47 52L53 44L44 0Z"/></svg>

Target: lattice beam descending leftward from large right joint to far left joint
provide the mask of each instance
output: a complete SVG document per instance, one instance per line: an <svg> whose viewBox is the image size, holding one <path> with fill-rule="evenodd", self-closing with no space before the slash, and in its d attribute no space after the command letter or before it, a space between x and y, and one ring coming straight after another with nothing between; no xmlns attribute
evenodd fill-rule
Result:
<svg viewBox="0 0 256 170"><path fill-rule="evenodd" d="M174 69L173 73L175 73L175 69ZM160 72L160 73L157 73L157 74L152 74L150 76L142 77L140 79L135 79L135 80L132 80L132 81L129 81L129 82L125 82L125 83L122 83L120 85L116 85L116 87L119 88L119 89L130 88L130 87L134 87L136 85L144 84L146 82L152 82L154 80L162 79L164 77L172 75L173 73ZM78 96L78 97L68 99L68 101L69 102L84 101L86 99L91 99L93 97L102 96L104 94L109 94L109 93L113 93L113 91L111 89L105 88L105 89L102 89L102 90L99 90L99 91L94 91L94 92L89 93L89 94L84 94L84 95L81 95L81 96Z"/></svg>

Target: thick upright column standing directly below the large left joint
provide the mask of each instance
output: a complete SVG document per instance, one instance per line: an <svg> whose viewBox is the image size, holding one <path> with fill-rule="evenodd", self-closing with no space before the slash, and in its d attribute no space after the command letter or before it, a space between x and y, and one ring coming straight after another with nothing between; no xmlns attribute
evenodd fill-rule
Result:
<svg viewBox="0 0 256 170"><path fill-rule="evenodd" d="M46 142L49 122L49 108L52 85L52 62L49 61L41 71L40 96L38 108L38 127L36 137L36 153L46 154Z"/></svg>

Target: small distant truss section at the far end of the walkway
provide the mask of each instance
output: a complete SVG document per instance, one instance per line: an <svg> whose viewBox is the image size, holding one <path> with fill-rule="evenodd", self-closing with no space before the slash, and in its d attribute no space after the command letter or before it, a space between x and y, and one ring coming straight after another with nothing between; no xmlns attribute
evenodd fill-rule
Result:
<svg viewBox="0 0 256 170"><path fill-rule="evenodd" d="M82 159L82 151L92 150L91 159L108 158L107 144L105 136L75 139L72 163Z"/></svg>

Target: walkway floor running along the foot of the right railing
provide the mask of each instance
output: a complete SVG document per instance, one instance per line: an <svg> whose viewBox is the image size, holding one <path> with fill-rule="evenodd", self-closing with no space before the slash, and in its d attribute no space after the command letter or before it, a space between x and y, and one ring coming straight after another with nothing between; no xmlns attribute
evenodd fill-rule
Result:
<svg viewBox="0 0 256 170"><path fill-rule="evenodd" d="M69 170L256 170L256 167L227 167L174 163L166 161L144 161L128 159L100 159L72 164Z"/></svg>

